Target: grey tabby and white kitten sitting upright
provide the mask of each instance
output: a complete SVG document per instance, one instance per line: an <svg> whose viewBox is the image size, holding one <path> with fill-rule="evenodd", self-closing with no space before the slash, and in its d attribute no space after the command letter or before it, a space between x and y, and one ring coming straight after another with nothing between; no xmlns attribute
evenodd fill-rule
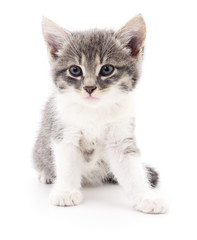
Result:
<svg viewBox="0 0 197 240"><path fill-rule="evenodd" d="M134 137L133 89L146 37L142 16L117 32L71 33L46 18L42 28L54 92L33 158L40 181L55 181L51 203L77 205L82 186L118 182L135 209L166 212L153 191L158 174L140 162Z"/></svg>

